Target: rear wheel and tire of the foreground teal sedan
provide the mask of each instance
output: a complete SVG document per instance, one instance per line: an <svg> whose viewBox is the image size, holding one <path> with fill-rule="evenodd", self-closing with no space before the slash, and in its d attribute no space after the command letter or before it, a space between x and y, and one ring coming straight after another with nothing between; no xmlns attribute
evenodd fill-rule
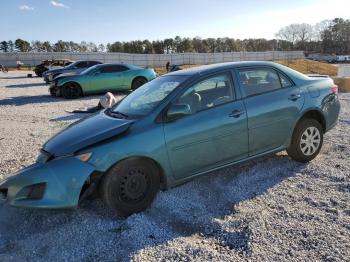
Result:
<svg viewBox="0 0 350 262"><path fill-rule="evenodd" d="M321 124L315 119L305 118L295 127L287 153L293 160L307 163L318 155L322 144Z"/></svg>

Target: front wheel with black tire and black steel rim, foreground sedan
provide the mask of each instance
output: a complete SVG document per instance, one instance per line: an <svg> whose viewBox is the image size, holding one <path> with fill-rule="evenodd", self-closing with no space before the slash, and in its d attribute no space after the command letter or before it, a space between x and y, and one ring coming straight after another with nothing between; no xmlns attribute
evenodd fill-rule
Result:
<svg viewBox="0 0 350 262"><path fill-rule="evenodd" d="M120 217L144 211L160 186L157 166L146 159L127 159L113 166L103 177L100 195Z"/></svg>

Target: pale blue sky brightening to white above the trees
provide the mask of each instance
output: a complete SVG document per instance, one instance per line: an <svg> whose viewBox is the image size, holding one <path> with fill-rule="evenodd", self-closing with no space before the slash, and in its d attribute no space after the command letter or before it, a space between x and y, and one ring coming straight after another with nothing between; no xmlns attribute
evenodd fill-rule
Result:
<svg viewBox="0 0 350 262"><path fill-rule="evenodd" d="M0 41L272 39L292 23L349 19L349 10L349 0L0 0Z"/></svg>

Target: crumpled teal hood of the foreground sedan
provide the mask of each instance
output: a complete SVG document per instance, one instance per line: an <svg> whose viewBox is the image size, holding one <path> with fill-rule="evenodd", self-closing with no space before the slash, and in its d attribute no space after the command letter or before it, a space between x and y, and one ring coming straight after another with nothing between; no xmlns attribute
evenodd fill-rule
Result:
<svg viewBox="0 0 350 262"><path fill-rule="evenodd" d="M135 120L112 118L101 111L53 136L44 144L43 150L55 157L72 154L125 132L133 122Z"/></svg>

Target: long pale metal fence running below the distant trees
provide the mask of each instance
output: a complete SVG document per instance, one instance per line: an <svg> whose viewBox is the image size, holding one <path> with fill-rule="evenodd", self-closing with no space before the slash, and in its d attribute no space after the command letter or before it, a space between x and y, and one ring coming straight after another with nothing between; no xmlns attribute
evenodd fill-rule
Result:
<svg viewBox="0 0 350 262"><path fill-rule="evenodd" d="M104 63L129 63L159 67L172 64L213 64L232 61L271 61L304 58L303 51L182 53L182 54L126 54L126 53L0 53L0 64L15 67L16 61L35 66L47 59L98 60Z"/></svg>

